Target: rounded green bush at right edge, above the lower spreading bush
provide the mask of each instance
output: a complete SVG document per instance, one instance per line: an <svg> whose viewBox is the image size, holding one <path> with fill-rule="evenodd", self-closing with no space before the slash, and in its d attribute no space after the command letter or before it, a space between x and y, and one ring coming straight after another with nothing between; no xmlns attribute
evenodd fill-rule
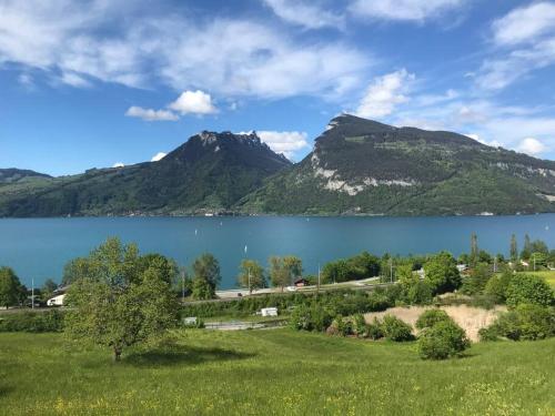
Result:
<svg viewBox="0 0 555 416"><path fill-rule="evenodd" d="M519 304L551 306L553 301L553 291L547 282L539 276L531 274L514 276L506 292L507 305L512 307L516 307Z"/></svg>

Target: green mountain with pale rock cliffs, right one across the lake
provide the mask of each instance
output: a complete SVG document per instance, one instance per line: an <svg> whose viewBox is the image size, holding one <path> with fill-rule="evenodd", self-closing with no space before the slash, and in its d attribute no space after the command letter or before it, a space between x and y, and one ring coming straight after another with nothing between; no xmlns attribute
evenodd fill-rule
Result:
<svg viewBox="0 0 555 416"><path fill-rule="evenodd" d="M293 169L238 204L274 214L554 212L555 162L465 135L341 115Z"/></svg>

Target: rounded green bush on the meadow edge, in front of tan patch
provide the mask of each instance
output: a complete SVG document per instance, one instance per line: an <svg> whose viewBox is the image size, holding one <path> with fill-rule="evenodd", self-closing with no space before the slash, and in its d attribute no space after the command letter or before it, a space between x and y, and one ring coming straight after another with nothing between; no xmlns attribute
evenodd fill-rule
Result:
<svg viewBox="0 0 555 416"><path fill-rule="evenodd" d="M452 319L441 321L422 331L418 354L424 359L445 359L457 356L471 346L462 327Z"/></svg>

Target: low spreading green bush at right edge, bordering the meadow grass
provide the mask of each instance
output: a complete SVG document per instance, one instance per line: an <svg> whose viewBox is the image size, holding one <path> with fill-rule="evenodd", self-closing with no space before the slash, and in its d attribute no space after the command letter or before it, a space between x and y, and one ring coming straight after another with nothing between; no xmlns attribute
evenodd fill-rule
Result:
<svg viewBox="0 0 555 416"><path fill-rule="evenodd" d="M487 328L480 331L482 341L505 337L513 341L543 339L555 335L555 311L539 305L518 305Z"/></svg>

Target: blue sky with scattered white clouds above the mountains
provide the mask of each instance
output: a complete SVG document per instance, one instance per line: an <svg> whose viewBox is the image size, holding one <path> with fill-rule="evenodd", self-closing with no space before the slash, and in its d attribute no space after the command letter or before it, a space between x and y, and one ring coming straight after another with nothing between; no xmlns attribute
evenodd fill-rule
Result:
<svg viewBox="0 0 555 416"><path fill-rule="evenodd" d="M155 161L202 130L300 161L343 112L555 160L555 1L0 0L0 168Z"/></svg>

